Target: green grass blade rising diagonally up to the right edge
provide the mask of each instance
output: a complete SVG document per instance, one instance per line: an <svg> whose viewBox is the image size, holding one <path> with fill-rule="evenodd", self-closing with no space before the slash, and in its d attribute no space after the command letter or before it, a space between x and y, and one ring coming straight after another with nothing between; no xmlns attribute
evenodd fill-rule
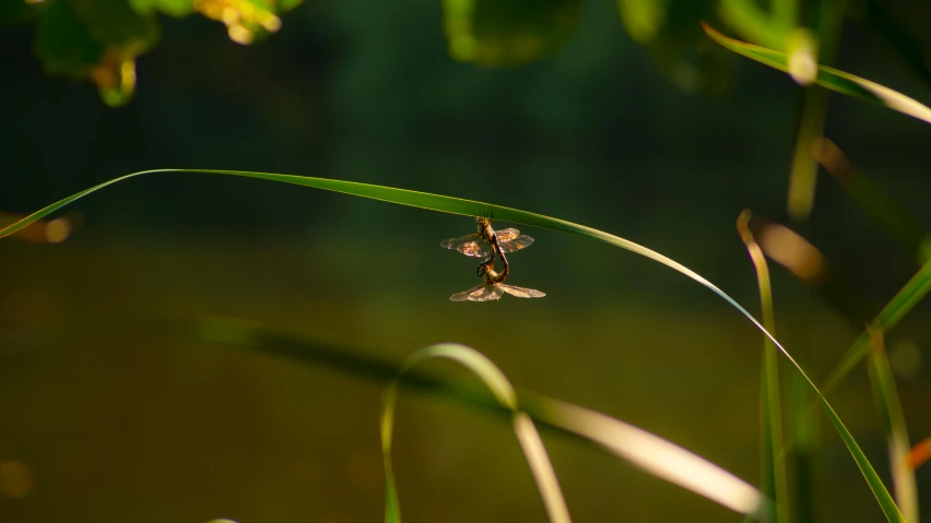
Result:
<svg viewBox="0 0 931 523"><path fill-rule="evenodd" d="M931 290L931 261L926 263L918 273L905 284L905 286L896 293L893 299L883 307L872 324L888 332L898 322L911 311ZM834 370L828 376L822 389L825 393L830 392L853 370L857 365L863 360L870 350L870 334L863 332L853 342L853 345L847 349L847 353L840 358L840 361L835 366Z"/></svg>

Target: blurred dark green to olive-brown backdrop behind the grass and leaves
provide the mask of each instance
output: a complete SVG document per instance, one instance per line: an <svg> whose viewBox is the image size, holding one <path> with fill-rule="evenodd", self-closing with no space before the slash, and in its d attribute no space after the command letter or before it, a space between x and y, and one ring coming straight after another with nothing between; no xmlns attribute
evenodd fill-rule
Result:
<svg viewBox="0 0 931 523"><path fill-rule="evenodd" d="M150 168L356 180L597 227L758 310L734 222L745 207L788 219L802 90L785 74L720 55L717 83L687 93L606 1L584 2L565 46L514 69L452 60L435 1L309 1L282 21L240 46L215 22L163 17L133 99L116 109L90 83L45 74L35 26L3 27L0 211L27 214ZM836 63L919 99L927 92L856 24ZM828 115L825 135L931 224L931 128L837 96ZM438 247L473 231L461 216L187 174L119 183L71 209L81 227L61 243L0 241L0 462L30 478L27 495L0 496L4 523L380 520L385 383L174 328L215 316L398 360L468 344L518 387L758 480L758 332L637 255L525 228L537 242L509 257L508 283L547 297L453 304L478 283L475 261ZM917 270L828 177L797 230L857 286L863 322ZM821 381L859 330L773 271L777 334ZM929 312L887 335L894 362L924 354ZM909 431L924 438L931 375L919 362L899 378ZM865 371L830 400L887 478ZM825 427L822 438L820 521L882 519L837 435ZM575 441L546 443L576 521L740 518ZM496 419L409 394L396 444L405 521L545 519ZM931 467L918 482L927 507Z"/></svg>

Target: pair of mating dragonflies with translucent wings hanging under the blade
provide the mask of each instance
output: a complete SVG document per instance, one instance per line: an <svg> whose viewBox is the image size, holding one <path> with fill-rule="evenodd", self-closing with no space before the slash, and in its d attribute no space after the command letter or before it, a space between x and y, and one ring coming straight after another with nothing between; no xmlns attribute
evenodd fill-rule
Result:
<svg viewBox="0 0 931 523"><path fill-rule="evenodd" d="M504 293L518 298L542 298L546 296L540 290L525 287L517 287L505 284L510 265L508 265L505 253L519 251L530 243L533 243L533 238L520 234L517 229L503 229L495 231L492 228L492 221L488 218L478 217L475 222L479 226L476 234L462 236L459 238L449 238L440 241L440 247L446 249L456 249L467 257L483 258L491 255L475 269L482 283L469 290L456 293L449 297L452 301L488 301L498 300ZM495 258L499 257L504 269L502 272L495 271Z"/></svg>

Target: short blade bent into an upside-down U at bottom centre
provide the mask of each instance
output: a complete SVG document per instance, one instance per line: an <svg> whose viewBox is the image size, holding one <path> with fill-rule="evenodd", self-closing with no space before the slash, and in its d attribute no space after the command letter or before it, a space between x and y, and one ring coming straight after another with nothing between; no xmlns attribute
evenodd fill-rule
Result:
<svg viewBox="0 0 931 523"><path fill-rule="evenodd" d="M514 433L517 436L540 496L546 506L550 521L554 523L569 523L569 509L563 498L556 472L543 447L543 440L537 431L537 427L530 417L517 408L517 393L505 377L504 372L483 354L474 348L456 344L433 345L411 355L401 366L399 377L396 378L385 391L381 405L381 455L385 461L386 503L385 521L389 523L401 521L401 508L398 502L398 489L394 484L394 473L391 464L391 440L394 432L394 408L398 404L398 387L400 377L415 365L429 358L447 358L459 362L475 376L482 379L485 385L494 394L498 403L512 413Z"/></svg>

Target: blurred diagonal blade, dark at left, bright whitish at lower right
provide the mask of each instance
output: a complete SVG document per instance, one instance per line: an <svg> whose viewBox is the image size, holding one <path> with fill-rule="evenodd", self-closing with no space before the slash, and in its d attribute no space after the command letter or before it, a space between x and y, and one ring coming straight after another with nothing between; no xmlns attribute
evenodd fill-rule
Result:
<svg viewBox="0 0 931 523"><path fill-rule="evenodd" d="M515 412L510 406L514 392L512 389L504 385L502 380L493 380L495 392L492 394L476 392L461 383L446 381L434 375L424 375L415 368L408 367L405 372L399 375L397 364L357 349L329 347L283 336L249 322L225 318L202 321L197 325L196 335L203 342L229 344L293 358L304 364L323 365L365 379L397 379L397 383L405 388L438 392L444 397L458 400L466 405L478 407L484 413L494 414L514 423ZM459 347L459 345L445 346ZM490 376L494 377L495 371L490 371ZM659 478L705 496L723 507L757 520L765 518L767 500L756 488L670 441L620 419L571 403L528 391L517 391L516 395L517 408L537 421L542 429L555 435L573 437L576 441L596 444ZM388 438L390 445L390 435ZM390 463L388 466L390 469ZM393 488L393 476L389 477L389 482ZM392 506L397 507L397 495L392 492L388 496L389 510Z"/></svg>

